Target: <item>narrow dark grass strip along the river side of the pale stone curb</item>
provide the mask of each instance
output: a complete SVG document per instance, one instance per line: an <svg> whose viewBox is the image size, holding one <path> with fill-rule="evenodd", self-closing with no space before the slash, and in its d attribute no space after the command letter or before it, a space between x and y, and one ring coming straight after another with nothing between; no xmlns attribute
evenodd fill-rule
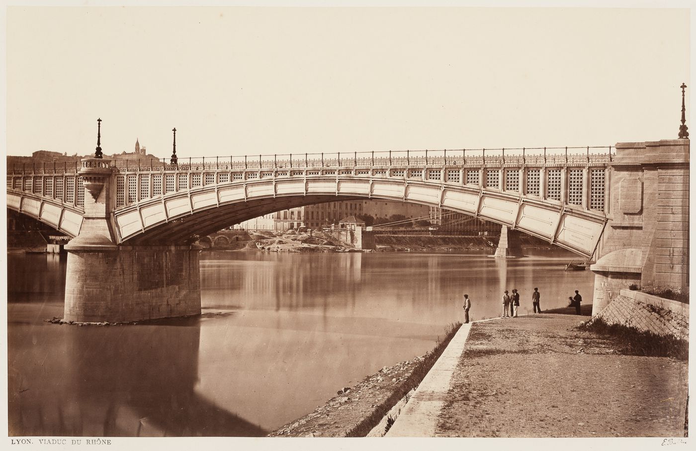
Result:
<svg viewBox="0 0 696 451"><path fill-rule="evenodd" d="M450 344L452 337L454 337L454 334L456 334L457 330L459 330L459 326L461 326L461 323L459 322L448 324L445 327L445 337L443 339L437 337L435 341L435 348L423 356L423 360L413 369L413 372L411 372L409 377L395 387L391 395L381 402L381 404L379 404L379 406L377 406L377 408L375 408L370 415L363 418L363 420L353 427L353 429L347 431L346 436L366 436L367 433L370 432L373 427L377 426L381 419L384 418L384 415L387 414L390 408L395 406L395 404L406 396L406 394L413 388L418 387L418 384L420 384L423 378L425 378L425 375L428 374L433 365L435 365L435 362L442 355L443 351L445 351L447 345Z"/></svg>

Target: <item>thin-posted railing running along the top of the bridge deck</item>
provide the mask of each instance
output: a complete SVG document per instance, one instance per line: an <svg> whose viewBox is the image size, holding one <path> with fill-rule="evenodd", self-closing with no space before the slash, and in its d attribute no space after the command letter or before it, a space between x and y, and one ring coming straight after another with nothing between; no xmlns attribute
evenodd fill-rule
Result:
<svg viewBox="0 0 696 451"><path fill-rule="evenodd" d="M613 146L480 148L425 151L287 153L275 155L112 160L120 171L249 171L339 167L407 167L448 165L553 165L606 163L614 159ZM8 174L77 173L80 162L15 163Z"/></svg>

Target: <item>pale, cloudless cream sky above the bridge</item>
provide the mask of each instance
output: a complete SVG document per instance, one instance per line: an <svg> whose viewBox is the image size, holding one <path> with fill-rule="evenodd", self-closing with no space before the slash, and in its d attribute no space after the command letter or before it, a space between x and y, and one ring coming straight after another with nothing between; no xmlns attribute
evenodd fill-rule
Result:
<svg viewBox="0 0 696 451"><path fill-rule="evenodd" d="M6 152L86 155L99 117L105 154L139 139L160 158L174 127L181 158L673 139L689 20L675 8L9 6Z"/></svg>

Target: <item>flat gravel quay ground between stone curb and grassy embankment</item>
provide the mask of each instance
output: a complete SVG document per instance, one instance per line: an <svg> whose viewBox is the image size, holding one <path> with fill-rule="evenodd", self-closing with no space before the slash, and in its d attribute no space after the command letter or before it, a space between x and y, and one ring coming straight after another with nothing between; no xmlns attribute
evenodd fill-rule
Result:
<svg viewBox="0 0 696 451"><path fill-rule="evenodd" d="M474 323L436 436L683 436L688 363L622 355L582 320Z"/></svg>

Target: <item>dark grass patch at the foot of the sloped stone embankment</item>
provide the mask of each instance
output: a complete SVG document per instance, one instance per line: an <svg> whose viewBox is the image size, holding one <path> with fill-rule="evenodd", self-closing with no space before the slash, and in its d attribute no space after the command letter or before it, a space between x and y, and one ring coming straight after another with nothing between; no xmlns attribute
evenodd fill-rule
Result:
<svg viewBox="0 0 696 451"><path fill-rule="evenodd" d="M594 332L610 339L617 348L621 348L622 352L629 356L671 357L683 361L689 357L689 342L672 335L657 335L633 326L609 325L601 318L583 323L576 329Z"/></svg>

